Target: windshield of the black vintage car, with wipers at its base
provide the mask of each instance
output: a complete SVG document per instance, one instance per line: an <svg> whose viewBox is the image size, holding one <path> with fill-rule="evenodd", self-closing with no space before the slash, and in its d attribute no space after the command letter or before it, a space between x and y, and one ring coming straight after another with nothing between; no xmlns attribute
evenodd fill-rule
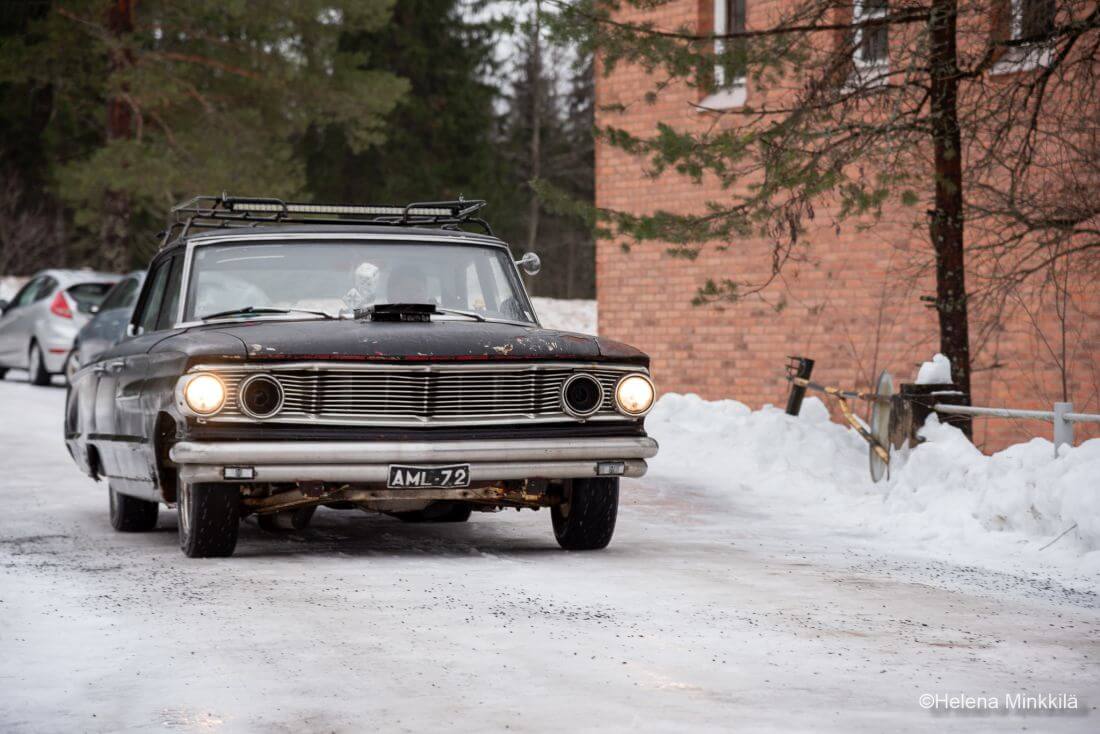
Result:
<svg viewBox="0 0 1100 734"><path fill-rule="evenodd" d="M187 291L186 321L238 309L348 317L380 304L431 304L488 319L535 321L507 251L470 244L199 245Z"/></svg>

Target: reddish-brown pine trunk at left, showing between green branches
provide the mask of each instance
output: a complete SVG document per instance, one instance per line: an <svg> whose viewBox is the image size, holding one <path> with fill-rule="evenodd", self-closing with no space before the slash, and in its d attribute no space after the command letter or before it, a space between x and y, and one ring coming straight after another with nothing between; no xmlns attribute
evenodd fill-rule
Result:
<svg viewBox="0 0 1100 734"><path fill-rule="evenodd" d="M134 30L132 0L111 0L107 11L107 29L116 39ZM133 63L129 50L120 46L111 54L111 72L121 72ZM123 94L124 94L123 89ZM127 140L133 136L134 114L130 102L117 95L107 100L107 140ZM130 213L128 191L108 189L103 193L102 222L100 224L101 267L114 272L130 269Z"/></svg>

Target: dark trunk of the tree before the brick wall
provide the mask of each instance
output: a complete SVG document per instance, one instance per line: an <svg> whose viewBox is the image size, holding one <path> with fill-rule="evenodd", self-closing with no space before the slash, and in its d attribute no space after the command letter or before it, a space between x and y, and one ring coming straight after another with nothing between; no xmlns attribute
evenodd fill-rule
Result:
<svg viewBox="0 0 1100 734"><path fill-rule="evenodd" d="M958 121L957 0L933 0L931 37L932 141L935 209L931 212L936 253L936 311L939 350L952 362L952 380L970 395L970 335L963 238L963 145ZM960 425L972 436L971 423Z"/></svg>

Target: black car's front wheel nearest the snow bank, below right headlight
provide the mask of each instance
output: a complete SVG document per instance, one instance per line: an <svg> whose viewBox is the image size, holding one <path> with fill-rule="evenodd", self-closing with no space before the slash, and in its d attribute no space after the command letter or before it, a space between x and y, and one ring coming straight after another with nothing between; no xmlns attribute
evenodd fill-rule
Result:
<svg viewBox="0 0 1100 734"><path fill-rule="evenodd" d="M565 550L606 548L617 515L618 478L565 482L561 502L550 507L553 535Z"/></svg>

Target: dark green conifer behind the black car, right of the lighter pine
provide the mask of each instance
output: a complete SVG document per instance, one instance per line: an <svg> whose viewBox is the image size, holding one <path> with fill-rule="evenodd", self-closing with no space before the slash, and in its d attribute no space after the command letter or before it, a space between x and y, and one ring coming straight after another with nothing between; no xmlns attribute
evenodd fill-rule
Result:
<svg viewBox="0 0 1100 734"><path fill-rule="evenodd" d="M354 120L318 121L305 141L310 194L318 200L408 202L490 199L502 175L494 155L497 25L474 20L481 3L404 0L384 29L345 32L340 47L364 68L407 79L385 117L386 144L358 151Z"/></svg>

